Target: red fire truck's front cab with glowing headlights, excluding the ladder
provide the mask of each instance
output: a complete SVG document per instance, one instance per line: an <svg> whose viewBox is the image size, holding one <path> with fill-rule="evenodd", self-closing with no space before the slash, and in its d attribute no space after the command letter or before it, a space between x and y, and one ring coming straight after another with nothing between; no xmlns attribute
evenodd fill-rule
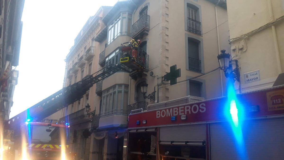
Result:
<svg viewBox="0 0 284 160"><path fill-rule="evenodd" d="M61 160L62 152L66 159L74 159L75 153L68 151L69 124L55 124L43 122L30 122L18 127L19 130L12 136L12 145L9 146L5 155L6 159L52 159ZM65 149L62 150L62 147ZM22 155L25 150L26 156ZM9 154L10 153L10 154Z"/></svg>

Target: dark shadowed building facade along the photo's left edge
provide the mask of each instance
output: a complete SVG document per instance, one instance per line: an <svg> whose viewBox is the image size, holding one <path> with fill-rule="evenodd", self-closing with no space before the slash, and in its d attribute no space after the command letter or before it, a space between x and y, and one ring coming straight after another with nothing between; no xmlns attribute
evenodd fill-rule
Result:
<svg viewBox="0 0 284 160"><path fill-rule="evenodd" d="M8 120L13 105L19 72L12 69L19 64L24 0L0 1L0 121Z"/></svg>

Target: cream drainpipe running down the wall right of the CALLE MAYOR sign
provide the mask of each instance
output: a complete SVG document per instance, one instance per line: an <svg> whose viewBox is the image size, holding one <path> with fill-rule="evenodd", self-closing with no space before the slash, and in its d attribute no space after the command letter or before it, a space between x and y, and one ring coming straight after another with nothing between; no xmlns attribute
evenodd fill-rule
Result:
<svg viewBox="0 0 284 160"><path fill-rule="evenodd" d="M274 20L274 16L273 16L271 0L268 0L268 9L269 9L269 14L270 14L270 21L272 21ZM274 48L275 48L275 54L276 54L277 69L278 69L278 73L280 74L282 73L282 69L281 69L281 61L280 61L277 35L276 35L275 26L273 25L271 26L271 28L272 28L273 42L274 42Z"/></svg>

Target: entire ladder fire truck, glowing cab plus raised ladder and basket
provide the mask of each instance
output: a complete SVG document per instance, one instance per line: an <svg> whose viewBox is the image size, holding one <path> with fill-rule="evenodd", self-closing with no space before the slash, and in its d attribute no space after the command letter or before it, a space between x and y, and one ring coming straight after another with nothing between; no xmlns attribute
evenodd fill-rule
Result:
<svg viewBox="0 0 284 160"><path fill-rule="evenodd" d="M9 159L20 159L18 157L19 154L21 155L19 148L23 143L26 144L27 152L32 160L57 159L60 153L59 150L63 145L59 143L59 140L61 140L59 136L60 131L64 132L63 135L66 138L63 139L64 143L66 143L66 151L68 151L69 122L54 124L52 122L42 122L42 120L69 104L80 100L95 83L106 79L120 70L130 73L130 75L141 73L145 69L148 56L139 47L140 41L137 42L135 45L133 45L134 40L121 44L119 49L122 54L118 64L114 64L114 62L108 63L98 72L87 75L81 81L60 89L53 95L5 122L5 130L14 133L14 136L7 139L10 143L9 145L7 143L6 147L8 148L7 155L8 153L11 155ZM22 135L25 135L25 138L22 138ZM10 145L11 147L9 148ZM15 156L15 154L17 155ZM74 155L75 153L71 153L69 158L70 156L74 157Z"/></svg>

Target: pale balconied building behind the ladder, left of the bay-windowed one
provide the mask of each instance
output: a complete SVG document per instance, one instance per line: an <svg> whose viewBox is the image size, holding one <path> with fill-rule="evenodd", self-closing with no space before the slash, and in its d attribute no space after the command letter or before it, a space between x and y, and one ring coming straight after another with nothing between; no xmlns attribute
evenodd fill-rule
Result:
<svg viewBox="0 0 284 160"><path fill-rule="evenodd" d="M111 7L108 6L100 7L78 33L74 46L66 56L63 87L81 81L98 70L100 44L95 41L95 38L105 28L102 18L110 9ZM89 133L92 128L92 118L99 114L99 106L96 106L95 102L100 101L95 89L96 84L81 99L46 118L48 121L59 120L59 122L70 123L69 149L70 152L77 153L78 159L89 159L90 155ZM96 115L91 116L91 114Z"/></svg>

